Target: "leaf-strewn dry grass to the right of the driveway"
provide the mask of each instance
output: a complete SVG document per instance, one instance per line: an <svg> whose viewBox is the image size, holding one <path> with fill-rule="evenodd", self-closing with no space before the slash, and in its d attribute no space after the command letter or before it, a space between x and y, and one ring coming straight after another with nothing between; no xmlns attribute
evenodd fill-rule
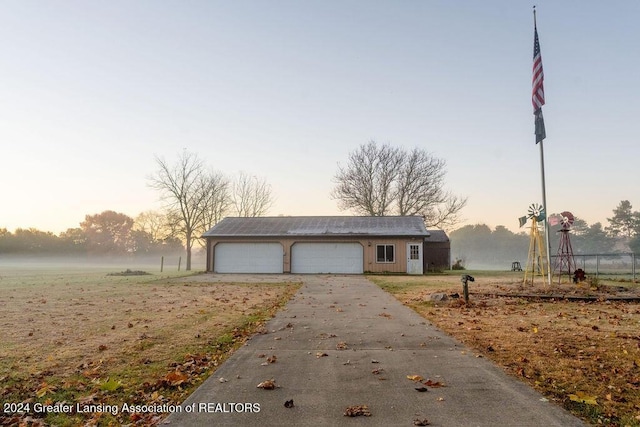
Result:
<svg viewBox="0 0 640 427"><path fill-rule="evenodd" d="M587 422L640 425L640 305L632 283L522 285L520 274L472 273L470 304L435 304L436 292L462 294L460 275L372 277L445 332ZM540 279L538 279L540 280ZM594 301L501 295L593 296Z"/></svg>

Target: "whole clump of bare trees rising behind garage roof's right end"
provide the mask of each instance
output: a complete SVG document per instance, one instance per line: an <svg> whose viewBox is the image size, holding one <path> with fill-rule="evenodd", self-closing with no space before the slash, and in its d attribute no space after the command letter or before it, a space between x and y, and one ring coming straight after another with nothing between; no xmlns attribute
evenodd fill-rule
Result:
<svg viewBox="0 0 640 427"><path fill-rule="evenodd" d="M341 209L358 214L422 215L429 227L456 224L467 203L444 188L446 162L414 148L407 152L374 141L349 154L338 166L332 197Z"/></svg>

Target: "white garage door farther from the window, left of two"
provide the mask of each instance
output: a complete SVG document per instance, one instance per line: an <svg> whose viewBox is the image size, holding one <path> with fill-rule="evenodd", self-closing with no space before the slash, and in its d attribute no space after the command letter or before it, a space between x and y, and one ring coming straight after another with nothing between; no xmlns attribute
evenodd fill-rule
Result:
<svg viewBox="0 0 640 427"><path fill-rule="evenodd" d="M282 273L280 243L218 243L213 270L216 273Z"/></svg>

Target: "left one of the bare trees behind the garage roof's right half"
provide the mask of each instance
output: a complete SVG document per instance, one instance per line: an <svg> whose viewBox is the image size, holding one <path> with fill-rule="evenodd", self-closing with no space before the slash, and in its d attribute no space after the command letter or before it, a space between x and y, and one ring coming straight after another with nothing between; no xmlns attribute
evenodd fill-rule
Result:
<svg viewBox="0 0 640 427"><path fill-rule="evenodd" d="M400 170L400 150L374 141L349 154L345 167L338 165L331 193L343 210L385 216L396 198L394 182Z"/></svg>

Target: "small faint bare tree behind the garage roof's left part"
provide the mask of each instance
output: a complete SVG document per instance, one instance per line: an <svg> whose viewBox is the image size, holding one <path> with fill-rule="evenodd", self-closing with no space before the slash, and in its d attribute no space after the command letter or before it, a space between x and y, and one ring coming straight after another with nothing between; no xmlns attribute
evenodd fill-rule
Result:
<svg viewBox="0 0 640 427"><path fill-rule="evenodd" d="M271 186L264 179L240 172L233 182L233 207L239 217L256 217L273 205Z"/></svg>

